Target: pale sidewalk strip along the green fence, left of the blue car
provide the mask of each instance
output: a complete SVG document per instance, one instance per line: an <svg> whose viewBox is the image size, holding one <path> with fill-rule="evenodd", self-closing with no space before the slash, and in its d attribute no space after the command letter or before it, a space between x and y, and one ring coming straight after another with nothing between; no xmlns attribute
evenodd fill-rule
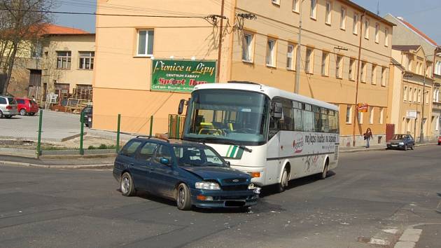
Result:
<svg viewBox="0 0 441 248"><path fill-rule="evenodd" d="M18 165L56 169L106 169L113 168L115 158L24 158L0 155L0 166Z"/></svg>

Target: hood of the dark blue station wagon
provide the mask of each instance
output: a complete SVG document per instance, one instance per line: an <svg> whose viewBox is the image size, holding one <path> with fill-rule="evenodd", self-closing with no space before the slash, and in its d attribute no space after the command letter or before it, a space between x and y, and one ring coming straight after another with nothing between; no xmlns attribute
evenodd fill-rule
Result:
<svg viewBox="0 0 441 248"><path fill-rule="evenodd" d="M191 172L204 180L215 179L221 182L223 179L246 178L251 180L251 176L240 170L229 167L181 167L183 170Z"/></svg>

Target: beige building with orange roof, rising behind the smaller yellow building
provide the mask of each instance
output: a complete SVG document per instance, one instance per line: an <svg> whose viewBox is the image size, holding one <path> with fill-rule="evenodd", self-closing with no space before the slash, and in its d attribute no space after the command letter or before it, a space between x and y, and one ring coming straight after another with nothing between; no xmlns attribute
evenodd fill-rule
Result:
<svg viewBox="0 0 441 248"><path fill-rule="evenodd" d="M427 132L427 138L436 139L440 135L441 118L440 97L436 97L436 95L439 95L438 89L441 84L441 50L433 39L430 39L429 36L407 22L404 18L395 17L391 14L386 15L384 18L396 25L393 27L393 45L419 45L423 48L426 54L426 59L428 61L426 69L430 71L430 75L433 74L433 97L430 97L433 109L431 115L428 117L430 132Z"/></svg>

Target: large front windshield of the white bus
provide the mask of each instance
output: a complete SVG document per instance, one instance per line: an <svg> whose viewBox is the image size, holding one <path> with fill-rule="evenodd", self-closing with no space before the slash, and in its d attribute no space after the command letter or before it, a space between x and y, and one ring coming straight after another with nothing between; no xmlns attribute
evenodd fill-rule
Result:
<svg viewBox="0 0 441 248"><path fill-rule="evenodd" d="M183 138L237 145L265 144L269 97L240 90L197 90L188 104Z"/></svg>

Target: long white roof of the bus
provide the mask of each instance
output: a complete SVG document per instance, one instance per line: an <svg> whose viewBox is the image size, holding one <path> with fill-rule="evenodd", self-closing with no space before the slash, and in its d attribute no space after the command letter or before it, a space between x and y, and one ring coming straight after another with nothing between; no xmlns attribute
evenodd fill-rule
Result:
<svg viewBox="0 0 441 248"><path fill-rule="evenodd" d="M267 95L269 99L273 99L274 97L284 97L288 99L293 99L295 101L304 102L307 104L322 106L327 109L332 109L335 111L339 110L338 106L335 106L334 104L329 104L328 102L323 102L310 97L304 97L302 95L297 95L292 92L269 87L267 85L261 85L258 83L205 83L202 85L195 86L195 90L216 90L216 89L245 90L245 91L260 92L262 94Z"/></svg>

